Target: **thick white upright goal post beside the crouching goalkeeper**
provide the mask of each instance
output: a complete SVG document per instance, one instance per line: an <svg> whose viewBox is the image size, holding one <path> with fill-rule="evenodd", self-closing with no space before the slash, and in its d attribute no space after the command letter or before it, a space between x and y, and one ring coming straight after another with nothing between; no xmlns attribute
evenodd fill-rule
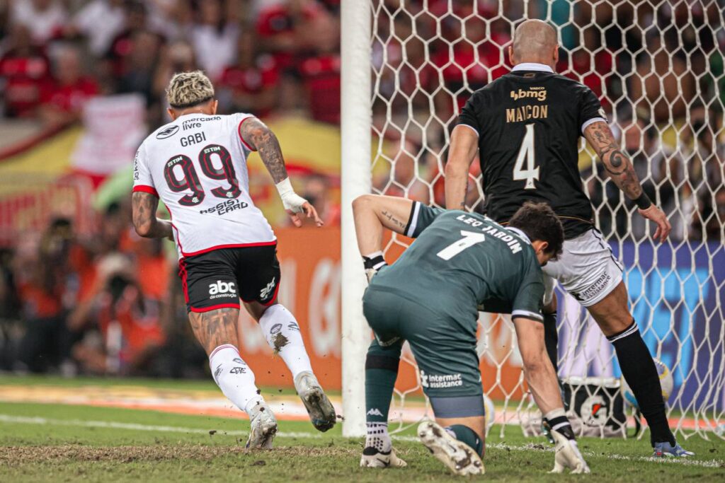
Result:
<svg viewBox="0 0 725 483"><path fill-rule="evenodd" d="M370 193L370 5L341 4L341 306L342 434L365 434L365 353L370 330L363 316L365 273L357 251L352 201ZM367 343L366 343L367 341Z"/></svg>

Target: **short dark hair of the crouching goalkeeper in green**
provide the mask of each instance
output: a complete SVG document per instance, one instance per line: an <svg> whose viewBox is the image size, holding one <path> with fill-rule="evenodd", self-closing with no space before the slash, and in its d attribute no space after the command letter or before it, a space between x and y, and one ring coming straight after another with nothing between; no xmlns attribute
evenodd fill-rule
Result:
<svg viewBox="0 0 725 483"><path fill-rule="evenodd" d="M549 243L546 253L552 253L553 258L560 255L564 244L564 228L547 203L526 201L515 212L508 226L526 233L531 241L542 240Z"/></svg>

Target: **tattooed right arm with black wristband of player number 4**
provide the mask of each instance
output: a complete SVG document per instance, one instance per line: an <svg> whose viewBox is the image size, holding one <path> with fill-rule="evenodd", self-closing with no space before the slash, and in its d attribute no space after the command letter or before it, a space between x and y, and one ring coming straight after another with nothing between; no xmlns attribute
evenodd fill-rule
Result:
<svg viewBox="0 0 725 483"><path fill-rule="evenodd" d="M665 241L672 226L663 211L655 206L642 190L642 185L639 183L629 157L617 145L607 123L593 122L584 129L584 138L587 138L589 146L592 146L602 160L602 164L617 187L624 192L627 198L637 203L639 214L657 224L654 238L659 238L660 242Z"/></svg>

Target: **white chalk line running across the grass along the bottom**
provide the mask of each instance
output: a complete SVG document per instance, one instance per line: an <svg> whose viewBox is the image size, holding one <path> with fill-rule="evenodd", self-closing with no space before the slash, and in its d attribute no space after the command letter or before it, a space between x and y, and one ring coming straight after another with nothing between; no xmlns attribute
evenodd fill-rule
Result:
<svg viewBox="0 0 725 483"><path fill-rule="evenodd" d="M136 423L121 423L118 421L83 421L80 419L51 419L43 418L40 416L11 416L9 414L0 414L0 422L10 424L38 424L45 425L51 424L54 426L70 426L70 427L93 427L93 428L110 428L110 429L130 429L132 431L150 431L150 432L178 432L187 434L225 434L228 436L244 436L246 437L249 432L246 431L227 431L223 429L199 429L199 428L186 428L178 426L155 426L151 424L136 424ZM279 437L291 437L291 438L307 438L307 439L319 439L322 437L321 434L309 433L309 432L278 432ZM397 436L392 435L393 440L406 441L406 442L417 442L418 438L415 436ZM512 450L512 451L537 451L542 453L553 453L554 448L548 448L544 445L527 443L526 445L514 446L507 445L501 442L487 443L486 449L494 448L497 450ZM583 455L587 457L601 457L600 453L594 453L592 451L582 451ZM626 456L619 455L616 453L608 453L607 458L616 459L620 461L642 461L646 463L660 463L660 464L681 464L684 466L700 466L702 468L721 468L725 466L725 463L721 460L694 460L690 458L654 458L653 456Z"/></svg>

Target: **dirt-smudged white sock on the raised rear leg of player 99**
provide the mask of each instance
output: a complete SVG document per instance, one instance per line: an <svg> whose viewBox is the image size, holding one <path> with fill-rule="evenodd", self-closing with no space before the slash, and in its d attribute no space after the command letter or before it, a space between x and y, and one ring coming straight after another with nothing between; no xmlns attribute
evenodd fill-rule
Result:
<svg viewBox="0 0 725 483"><path fill-rule="evenodd" d="M265 310L260 318L260 327L265 333L267 343L279 354L292 373L293 380L300 372L312 372L310 356L307 356L299 324L294 315L281 303L276 303Z"/></svg>

